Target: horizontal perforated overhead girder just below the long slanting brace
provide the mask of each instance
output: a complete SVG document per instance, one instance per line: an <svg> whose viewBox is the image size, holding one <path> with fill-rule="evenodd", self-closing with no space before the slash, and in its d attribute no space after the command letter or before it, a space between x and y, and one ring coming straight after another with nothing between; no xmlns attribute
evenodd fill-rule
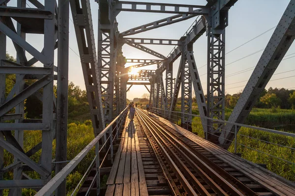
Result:
<svg viewBox="0 0 295 196"><path fill-rule="evenodd" d="M148 39L148 38L121 38L120 43L132 43L132 44L153 44L153 45L180 45L179 40L172 39Z"/></svg>

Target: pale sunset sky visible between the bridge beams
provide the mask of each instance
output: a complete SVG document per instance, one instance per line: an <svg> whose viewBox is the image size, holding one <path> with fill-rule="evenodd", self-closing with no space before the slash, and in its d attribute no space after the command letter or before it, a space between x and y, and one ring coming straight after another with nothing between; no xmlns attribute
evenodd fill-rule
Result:
<svg viewBox="0 0 295 196"><path fill-rule="evenodd" d="M43 0L44 1L44 0ZM159 0L132 0L132 1L148 1L159 2ZM42 2L42 0L41 0ZM179 0L160 0L163 3L180 3ZM235 94L242 91L247 83L250 75L253 72L254 66L256 66L263 49L271 37L274 28L281 19L290 0L238 0L234 6L229 10L229 25L226 27L226 93ZM195 4L206 5L206 0L182 0L182 4ZM98 4L94 0L90 0L92 22L94 28L95 41L97 42L97 24L98 24ZM8 6L15 6L16 0L11 0ZM28 6L33 7L28 2ZM174 14L163 13L142 13L142 12L120 12L117 16L118 29L120 32L128 30L130 28L144 25L153 21L157 21ZM194 23L197 17L192 19L160 27L157 29L149 30L143 33L135 34L128 37L136 38L162 38L162 39L179 39ZM72 16L70 14L70 19ZM82 74L81 61L79 57L79 50L77 46L76 35L74 31L74 25L72 21L69 22L69 80L73 81L76 85L79 85L82 89L85 89L85 82ZM270 30L269 30L270 29ZM268 32L264 33L266 30ZM256 36L264 33L258 38L250 41L249 43L241 46L247 41L255 38ZM27 34L27 41L39 51L43 48L43 35ZM144 45L150 49L153 49L164 56L167 56L174 46L160 46L160 45ZM96 48L97 49L97 48ZM202 35L194 44L194 57L197 63L197 67L202 87L207 94L207 37ZM145 53L141 50L134 49L130 46L123 46L123 55L126 58L138 58L138 59L157 59L157 57ZM12 42L7 38L7 52L15 56L16 52L12 45ZM255 53L255 54L253 54ZM279 67L274 75L266 85L266 89L269 87L277 88L295 88L295 44L290 47L285 55ZM253 54L253 55L250 55ZM250 55L250 56L249 56ZM31 57L27 52L27 57ZM180 58L179 58L180 59ZM175 61L173 68L174 78L177 75L179 66L179 59ZM241 59L241 60L239 60ZM238 60L238 61L237 61ZM57 65L57 50L55 51L55 65ZM125 66L131 66L134 64L127 63ZM36 64L36 66L41 66ZM155 70L156 65L143 67L142 69ZM241 73L242 72L242 73ZM238 74L237 74L238 73ZM165 72L163 73L165 78ZM165 81L165 80L164 80ZM127 98L141 98L144 93L148 93L144 86L134 85L127 92Z"/></svg>

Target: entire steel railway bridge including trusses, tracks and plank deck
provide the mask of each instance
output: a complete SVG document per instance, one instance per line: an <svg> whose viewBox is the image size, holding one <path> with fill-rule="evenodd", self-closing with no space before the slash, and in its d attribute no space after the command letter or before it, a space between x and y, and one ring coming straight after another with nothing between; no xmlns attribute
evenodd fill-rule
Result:
<svg viewBox="0 0 295 196"><path fill-rule="evenodd" d="M95 150L93 161L84 166L87 172L71 195L295 195L294 182L236 153L237 146L253 148L237 141L238 137L247 137L239 133L243 127L295 138L293 133L244 124L295 39L295 0L287 5L227 121L225 29L237 0L207 0L204 5L95 0L98 29L92 24L91 0L17 0L15 6L8 6L9 1L0 0L0 195L6 190L9 196L20 196L24 189L31 189L37 196L65 196L66 177L91 149ZM166 13L169 17L120 32L117 19L121 12ZM72 160L67 160L69 16L94 134ZM192 18L194 23L176 39L133 37ZM29 43L27 34L41 35L38 42L43 48ZM207 36L207 92L193 53L194 43L201 36ZM16 62L6 59L8 39L15 48ZM127 58L124 45L154 59ZM146 45L175 47L163 55ZM127 67L127 63L137 64ZM157 69L145 70L150 65L157 65ZM134 69L138 72L132 73ZM6 92L9 74L16 77L11 91ZM145 86L153 107L149 113L136 108L131 119L126 94L133 85ZM192 114L193 93L199 115ZM176 111L178 96L180 111ZM38 119L25 115L29 97L42 102ZM41 133L40 142L28 151L24 151L25 130ZM196 130L204 137L194 134ZM294 147L287 148L294 153ZM39 150L41 156L35 162L32 157ZM6 151L14 160L4 166ZM294 160L267 155L295 166ZM12 171L13 177L4 179ZM38 178L30 177L32 172ZM106 182L102 182L103 175L108 176Z"/></svg>

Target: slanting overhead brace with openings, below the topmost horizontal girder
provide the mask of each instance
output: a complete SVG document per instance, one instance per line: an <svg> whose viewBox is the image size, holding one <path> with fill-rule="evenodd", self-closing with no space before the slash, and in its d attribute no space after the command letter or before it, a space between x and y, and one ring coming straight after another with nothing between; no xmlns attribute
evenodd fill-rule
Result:
<svg viewBox="0 0 295 196"><path fill-rule="evenodd" d="M193 18L195 16L196 15L192 15L192 14L177 14L177 15L174 15L171 17L167 17L167 18L158 20L158 21L154 21L152 23L148 23L146 25L141 25L141 26L137 26L135 28L131 28L127 31L120 33L120 36L127 36L127 35L134 35L137 33L142 33L142 32L152 30L155 28L159 28L162 26L171 25L174 23L185 21L185 20Z"/></svg>

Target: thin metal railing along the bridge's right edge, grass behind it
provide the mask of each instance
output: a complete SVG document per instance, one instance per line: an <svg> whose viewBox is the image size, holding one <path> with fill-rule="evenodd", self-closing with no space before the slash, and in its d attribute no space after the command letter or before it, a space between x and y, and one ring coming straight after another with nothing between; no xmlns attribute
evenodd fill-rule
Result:
<svg viewBox="0 0 295 196"><path fill-rule="evenodd" d="M295 153L295 134L294 133L267 129L267 128L262 128L257 126L246 125L246 124L222 121L218 119L211 119L208 117L201 117L199 115L187 114L187 113L176 112L176 111L172 111L171 116L167 118L169 112L170 111L164 110L161 108L153 108L153 113L163 118L166 118L170 122L176 123L177 125L181 125L180 124L181 114L184 114L185 119L188 116L191 116L192 117L191 124L184 122L182 123L182 127L188 129L190 126L192 126L193 131L197 131L197 129L202 130L202 131L199 131L198 134L200 137L203 137L205 139L207 139L209 134L212 134L212 133L209 133L206 130L204 131L205 133L203 132L204 130L203 126L206 127L206 124L201 123L201 118L214 120L221 123L233 124L235 126L235 133L232 132L232 134L235 134L235 138L233 141L230 141L232 142L232 145L229 147L228 149L229 151L234 153L239 152L243 156L243 158L246 158L249 161L255 162L254 158L251 157L254 154L252 154L251 156L250 155L247 156L247 154L245 153L245 150L243 150L245 148L248 148L249 150L255 151L256 156L259 156L260 154L261 156L262 155L267 156L268 159L275 158L277 159L275 163L289 164L291 168L295 167L294 157L293 158L290 157L292 156L292 154ZM238 127L241 127L239 131L237 131ZM223 139L227 140L226 138L223 138ZM259 157L258 160L260 164L262 164L263 161L265 161L265 159L263 159L262 157ZM264 164L270 164L270 163L265 162ZM279 166L276 166L276 167L279 167Z"/></svg>

